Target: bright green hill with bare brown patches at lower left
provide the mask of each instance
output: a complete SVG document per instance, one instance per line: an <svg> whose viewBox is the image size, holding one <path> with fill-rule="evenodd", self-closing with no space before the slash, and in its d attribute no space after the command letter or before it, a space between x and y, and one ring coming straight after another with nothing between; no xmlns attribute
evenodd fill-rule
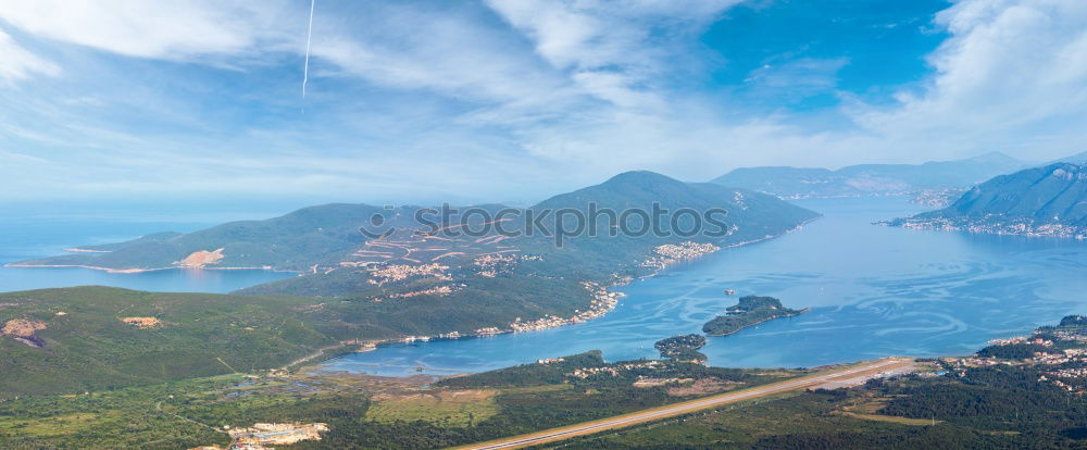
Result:
<svg viewBox="0 0 1087 450"><path fill-rule="evenodd" d="M34 321L41 348L0 336L0 392L113 389L289 363L335 343L307 321L312 300L153 293L105 287L0 295L0 323ZM155 317L141 329L124 317ZM222 360L222 361L220 361Z"/></svg>

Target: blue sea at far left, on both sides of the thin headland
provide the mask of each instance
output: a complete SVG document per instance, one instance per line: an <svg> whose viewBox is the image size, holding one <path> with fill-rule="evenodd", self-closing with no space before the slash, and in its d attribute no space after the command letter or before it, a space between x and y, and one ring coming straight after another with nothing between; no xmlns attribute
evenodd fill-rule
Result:
<svg viewBox="0 0 1087 450"><path fill-rule="evenodd" d="M212 225L202 222L110 220L87 216L20 215L0 217L0 292L101 285L167 292L224 293L293 276L268 271L172 270L111 274L89 268L18 268L5 263L64 253L79 245L127 240L163 232L191 232Z"/></svg>

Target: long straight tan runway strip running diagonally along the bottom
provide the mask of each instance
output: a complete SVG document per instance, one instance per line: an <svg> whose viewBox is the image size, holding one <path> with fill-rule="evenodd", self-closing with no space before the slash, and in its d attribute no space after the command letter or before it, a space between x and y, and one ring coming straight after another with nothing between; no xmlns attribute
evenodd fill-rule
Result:
<svg viewBox="0 0 1087 450"><path fill-rule="evenodd" d="M460 449L465 449L465 450L515 449L545 442L553 442L557 440L569 439L575 436L591 435L594 433L599 433L607 429L623 428L639 423L659 421L662 418L684 415L695 411L711 409L723 404L735 403L742 400L751 400L759 397L766 397L774 393L780 393L790 390L805 389L809 387L822 385L827 382L855 378L865 374L876 374L879 372L898 368L903 365L912 363L913 360L911 359L901 359L901 358L884 359L884 360L853 365L850 367L840 368L837 371L826 372L817 375L810 375L797 379L790 379L787 382L757 386L753 388L744 389L735 392L721 393L717 396L707 397L704 399L691 400L672 405L654 408L651 410L619 415L615 417L604 418L600 421L592 421L577 425L552 428L545 432L534 433L530 435L516 436L490 442L483 442L466 447L460 447Z"/></svg>

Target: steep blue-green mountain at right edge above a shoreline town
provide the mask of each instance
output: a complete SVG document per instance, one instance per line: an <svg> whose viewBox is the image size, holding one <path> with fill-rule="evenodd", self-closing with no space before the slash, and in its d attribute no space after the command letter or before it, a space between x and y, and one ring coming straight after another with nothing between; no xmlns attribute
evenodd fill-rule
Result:
<svg viewBox="0 0 1087 450"><path fill-rule="evenodd" d="M888 222L925 229L1087 236L1087 165L1055 163L983 183L950 207Z"/></svg>

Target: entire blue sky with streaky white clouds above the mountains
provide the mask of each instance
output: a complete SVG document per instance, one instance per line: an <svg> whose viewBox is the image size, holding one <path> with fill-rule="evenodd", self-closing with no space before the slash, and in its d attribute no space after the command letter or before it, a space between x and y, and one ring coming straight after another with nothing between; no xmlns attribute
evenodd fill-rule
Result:
<svg viewBox="0 0 1087 450"><path fill-rule="evenodd" d="M532 201L1085 150L1082 0L0 4L0 202Z"/></svg>

